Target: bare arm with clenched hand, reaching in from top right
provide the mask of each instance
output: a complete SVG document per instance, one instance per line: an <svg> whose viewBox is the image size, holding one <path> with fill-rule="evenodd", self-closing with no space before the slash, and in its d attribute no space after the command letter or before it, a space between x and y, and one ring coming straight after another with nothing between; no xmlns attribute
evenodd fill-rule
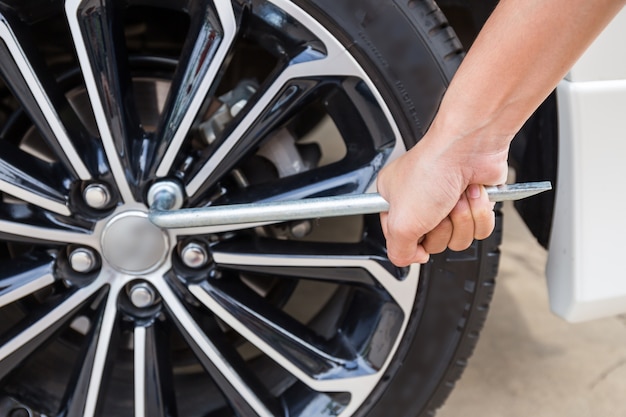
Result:
<svg viewBox="0 0 626 417"><path fill-rule="evenodd" d="M502 0L424 138L379 175L390 259L426 262L494 227L483 188L507 173L509 144L626 0Z"/></svg>

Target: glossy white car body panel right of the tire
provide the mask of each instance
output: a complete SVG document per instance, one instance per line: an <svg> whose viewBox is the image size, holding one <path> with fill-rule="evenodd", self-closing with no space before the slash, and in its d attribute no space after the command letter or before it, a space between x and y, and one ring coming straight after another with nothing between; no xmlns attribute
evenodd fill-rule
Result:
<svg viewBox="0 0 626 417"><path fill-rule="evenodd" d="M547 265L568 321L626 313L626 9L557 88L559 167Z"/></svg>

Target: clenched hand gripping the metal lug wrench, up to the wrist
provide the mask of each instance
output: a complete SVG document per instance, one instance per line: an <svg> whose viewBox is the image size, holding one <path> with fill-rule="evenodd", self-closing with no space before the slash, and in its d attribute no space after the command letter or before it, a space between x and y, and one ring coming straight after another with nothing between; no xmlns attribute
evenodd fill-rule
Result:
<svg viewBox="0 0 626 417"><path fill-rule="evenodd" d="M390 205L389 212L381 213L381 226L395 265L425 263L430 254L464 250L491 234L494 204L482 185L470 184L477 176L464 161L471 160L493 166L481 170L493 181L489 183L504 182L506 157L471 159L458 149L442 152L426 141L380 172L378 192Z"/></svg>

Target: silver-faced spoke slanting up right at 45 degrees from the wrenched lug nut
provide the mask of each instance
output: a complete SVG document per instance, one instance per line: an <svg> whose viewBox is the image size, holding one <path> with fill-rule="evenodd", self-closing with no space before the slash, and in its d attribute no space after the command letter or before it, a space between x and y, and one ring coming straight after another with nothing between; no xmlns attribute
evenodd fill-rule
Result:
<svg viewBox="0 0 626 417"><path fill-rule="evenodd" d="M282 115L283 106L290 107L297 104L296 102L302 97L302 93L306 96L306 92L309 90L302 88L302 85L300 90L297 87L295 89L286 88L289 85L296 85L295 81L292 83L292 80L354 75L352 71L346 70L346 68L350 69L352 66L341 66L341 63L345 64L345 59L346 57L343 54L333 56L331 59L328 56L323 57L312 49L302 52L258 97L237 126L229 132L219 144L219 147L213 151L208 160L194 174L193 178L186 185L187 194L193 197L207 182L214 180L220 174L232 168L235 162L241 158L240 152L245 152L255 144L255 140L259 140L257 136L247 134L251 129L256 126L267 128L267 125L271 125L271 122L275 121L276 117ZM306 83L303 85L306 86ZM273 106L278 106L276 110L280 111L274 112ZM264 117L267 118L265 125L260 125L259 120L263 120Z"/></svg>

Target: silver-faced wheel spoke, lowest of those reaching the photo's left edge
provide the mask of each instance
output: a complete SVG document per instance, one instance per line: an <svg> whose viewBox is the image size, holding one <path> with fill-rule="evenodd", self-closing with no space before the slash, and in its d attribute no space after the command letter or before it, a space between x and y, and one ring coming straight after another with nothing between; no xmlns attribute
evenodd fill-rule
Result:
<svg viewBox="0 0 626 417"><path fill-rule="evenodd" d="M29 321L17 334L9 336L0 347L0 379L68 324L76 311L85 305L100 286L99 283L92 283L77 290L49 312L32 322Z"/></svg>

